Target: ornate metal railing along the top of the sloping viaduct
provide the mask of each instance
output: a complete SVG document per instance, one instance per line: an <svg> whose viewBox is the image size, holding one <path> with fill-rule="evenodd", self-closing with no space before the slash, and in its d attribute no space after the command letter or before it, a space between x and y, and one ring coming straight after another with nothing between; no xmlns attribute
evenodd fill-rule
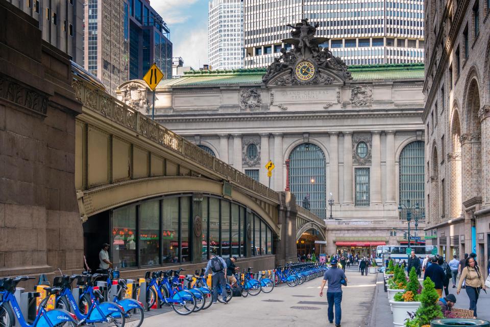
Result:
<svg viewBox="0 0 490 327"><path fill-rule="evenodd" d="M253 190L276 202L279 201L279 193L237 171L226 162L210 155L137 110L133 110L103 90L91 87L88 83L77 79L74 79L71 86L75 90L76 99L82 102L86 108L143 135L167 149L178 152L188 160L193 161L195 165L203 166L221 175L223 179L233 181L237 185Z"/></svg>

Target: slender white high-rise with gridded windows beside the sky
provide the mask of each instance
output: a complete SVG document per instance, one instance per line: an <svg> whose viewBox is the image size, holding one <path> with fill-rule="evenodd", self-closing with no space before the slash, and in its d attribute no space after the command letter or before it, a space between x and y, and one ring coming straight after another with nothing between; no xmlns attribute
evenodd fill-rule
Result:
<svg viewBox="0 0 490 327"><path fill-rule="evenodd" d="M212 69L243 68L243 0L210 0L208 20Z"/></svg>

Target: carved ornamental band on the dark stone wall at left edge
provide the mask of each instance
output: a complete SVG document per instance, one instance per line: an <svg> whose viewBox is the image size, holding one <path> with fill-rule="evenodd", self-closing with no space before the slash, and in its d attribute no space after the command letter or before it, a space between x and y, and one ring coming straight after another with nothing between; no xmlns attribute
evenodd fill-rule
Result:
<svg viewBox="0 0 490 327"><path fill-rule="evenodd" d="M42 92L0 76L0 98L21 107L46 114L47 96Z"/></svg>

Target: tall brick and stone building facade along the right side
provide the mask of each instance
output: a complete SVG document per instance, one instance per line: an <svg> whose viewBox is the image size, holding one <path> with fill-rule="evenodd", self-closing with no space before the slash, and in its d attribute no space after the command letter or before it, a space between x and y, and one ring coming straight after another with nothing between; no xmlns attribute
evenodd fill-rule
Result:
<svg viewBox="0 0 490 327"><path fill-rule="evenodd" d="M426 2L427 232L439 252L490 255L490 8ZM486 270L486 269L485 269Z"/></svg>

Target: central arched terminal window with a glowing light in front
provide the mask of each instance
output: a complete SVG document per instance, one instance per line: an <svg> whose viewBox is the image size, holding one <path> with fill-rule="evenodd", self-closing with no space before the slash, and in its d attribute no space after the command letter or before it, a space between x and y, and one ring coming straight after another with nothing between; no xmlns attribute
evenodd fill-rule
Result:
<svg viewBox="0 0 490 327"><path fill-rule="evenodd" d="M324 219L326 207L325 154L311 143L304 143L289 155L289 186L298 205Z"/></svg>

